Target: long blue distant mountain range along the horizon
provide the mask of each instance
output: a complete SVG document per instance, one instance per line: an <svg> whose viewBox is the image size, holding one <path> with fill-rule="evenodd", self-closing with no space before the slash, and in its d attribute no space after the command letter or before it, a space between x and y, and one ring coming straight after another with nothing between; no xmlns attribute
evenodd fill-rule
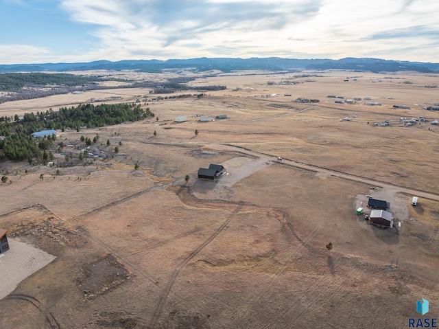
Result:
<svg viewBox="0 0 439 329"><path fill-rule="evenodd" d="M195 69L223 72L240 70L297 71L300 69L344 69L353 71L395 72L416 71L423 73L439 72L439 63L408 62L382 60L377 58L342 58L331 59L289 59L289 58L192 58L170 60L120 60L110 62L97 60L90 63L46 63L0 65L0 73L8 72L44 72L44 71L91 71L91 70L132 69L143 72L161 72L164 69Z"/></svg>

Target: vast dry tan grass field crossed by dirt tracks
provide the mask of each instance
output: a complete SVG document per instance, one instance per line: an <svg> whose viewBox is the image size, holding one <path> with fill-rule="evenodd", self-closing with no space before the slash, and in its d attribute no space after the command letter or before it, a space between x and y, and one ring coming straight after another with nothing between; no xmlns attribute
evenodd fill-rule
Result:
<svg viewBox="0 0 439 329"><path fill-rule="evenodd" d="M142 102L158 121L58 132L75 146L99 134L91 152L108 157L86 166L0 163L0 227L56 256L0 300L0 328L406 328L422 297L437 317L439 113L423 106L439 102L424 87L439 76L305 73L199 78L227 90ZM109 95L152 97L91 91L5 102L0 115ZM209 163L226 174L198 179ZM394 228L355 214L366 194L390 202ZM412 207L412 195L425 197Z"/></svg>

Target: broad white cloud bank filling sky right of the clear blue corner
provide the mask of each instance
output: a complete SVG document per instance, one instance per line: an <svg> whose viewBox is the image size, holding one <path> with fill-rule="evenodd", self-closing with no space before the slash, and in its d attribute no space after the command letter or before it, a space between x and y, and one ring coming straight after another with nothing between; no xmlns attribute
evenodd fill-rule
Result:
<svg viewBox="0 0 439 329"><path fill-rule="evenodd" d="M61 8L72 21L91 24L89 33L99 39L93 49L58 57L66 61L201 56L435 61L439 35L434 0L62 0ZM402 46L404 53L398 52Z"/></svg>

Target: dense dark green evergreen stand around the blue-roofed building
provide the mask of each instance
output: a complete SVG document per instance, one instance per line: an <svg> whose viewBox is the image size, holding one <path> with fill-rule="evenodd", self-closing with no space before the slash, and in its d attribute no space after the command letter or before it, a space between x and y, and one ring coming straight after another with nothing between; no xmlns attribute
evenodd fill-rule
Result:
<svg viewBox="0 0 439 329"><path fill-rule="evenodd" d="M106 126L110 124L121 124L126 121L139 121L145 117L154 117L150 109L143 110L135 104L81 104L71 108L61 108L60 111L52 109L36 114L25 113L23 120L18 115L14 117L0 117L0 160L10 159L12 161L23 161L27 159L41 159L45 150L53 145L55 137L39 139L38 143L31 136L36 131L44 129L73 128L80 131L80 128L87 126ZM3 119L2 119L3 118Z"/></svg>

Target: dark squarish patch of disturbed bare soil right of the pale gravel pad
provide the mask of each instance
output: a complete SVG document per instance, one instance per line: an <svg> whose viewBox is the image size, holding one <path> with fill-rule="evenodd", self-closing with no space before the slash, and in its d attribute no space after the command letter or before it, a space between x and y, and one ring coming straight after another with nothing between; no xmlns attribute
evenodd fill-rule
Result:
<svg viewBox="0 0 439 329"><path fill-rule="evenodd" d="M123 264L108 254L84 265L78 274L77 281L84 292L84 299L91 300L116 288L131 276Z"/></svg>

